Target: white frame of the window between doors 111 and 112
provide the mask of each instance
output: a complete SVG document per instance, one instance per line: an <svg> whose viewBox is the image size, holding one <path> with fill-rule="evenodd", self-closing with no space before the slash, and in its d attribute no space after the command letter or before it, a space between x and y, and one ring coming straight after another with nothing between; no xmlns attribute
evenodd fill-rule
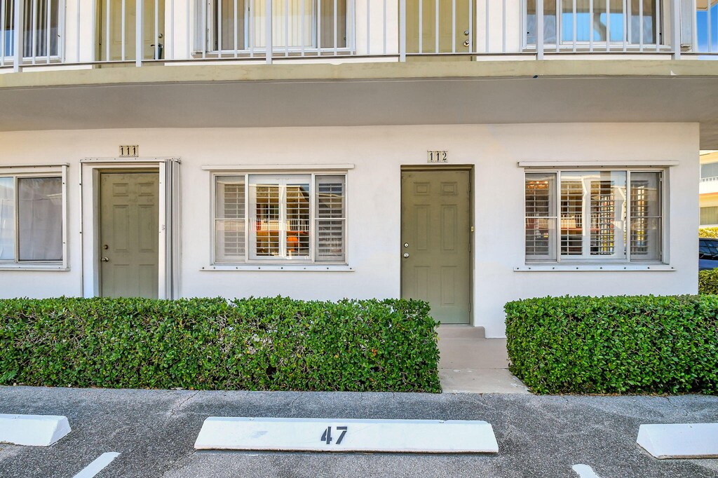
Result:
<svg viewBox="0 0 718 478"><path fill-rule="evenodd" d="M207 168L205 168L207 169ZM220 220L217 217L217 178L218 177L243 177L244 179L244 258L238 261L220 261L217 259L217 228L216 222ZM344 240L342 243L343 248L343 261L327 261L317 258L317 223L322 218L317 217L317 177L342 177L344 185L344 215L341 218L335 218L335 220L344 221ZM264 179L264 182L262 180ZM309 182L309 258L303 256L299 257L287 257L284 253L286 243L281 243L280 247L282 250L282 256L276 258L257 258L256 247L253 245L253 240L256 236L251 230L251 219L253 214L251 212L251 192L250 187L252 184L277 184L286 185L292 182L306 180ZM270 182L272 181L272 182ZM210 191L211 191L211 202L210 202L210 230L211 230L211 264L213 268L226 267L226 266L347 266L348 265L348 172L347 170L327 170L327 171L267 171L267 170L256 170L256 171L238 171L236 169L229 170L216 170L213 169L210 174ZM280 221L281 218L286 217L286 208L280 210ZM216 267L215 267L216 266Z"/></svg>

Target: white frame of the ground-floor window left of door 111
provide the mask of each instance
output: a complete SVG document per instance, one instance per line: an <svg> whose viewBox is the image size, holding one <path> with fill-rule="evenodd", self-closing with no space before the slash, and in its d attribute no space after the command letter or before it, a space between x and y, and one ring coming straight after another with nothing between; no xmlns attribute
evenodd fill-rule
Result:
<svg viewBox="0 0 718 478"><path fill-rule="evenodd" d="M67 164L50 166L0 167L0 177L14 178L15 252L13 260L0 260L0 270L67 271ZM60 261L20 261L17 180L22 178L59 177L62 181L62 259Z"/></svg>

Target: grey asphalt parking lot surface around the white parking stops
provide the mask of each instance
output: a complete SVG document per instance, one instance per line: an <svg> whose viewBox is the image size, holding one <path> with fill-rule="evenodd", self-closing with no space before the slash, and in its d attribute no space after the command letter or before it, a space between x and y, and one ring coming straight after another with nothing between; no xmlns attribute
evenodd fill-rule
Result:
<svg viewBox="0 0 718 478"><path fill-rule="evenodd" d="M718 422L718 397L195 392L0 387L0 413L64 415L47 448L0 444L0 477L717 477L718 459L657 460L641 423ZM498 455L195 451L208 416L485 420ZM585 475L588 477L589 475Z"/></svg>

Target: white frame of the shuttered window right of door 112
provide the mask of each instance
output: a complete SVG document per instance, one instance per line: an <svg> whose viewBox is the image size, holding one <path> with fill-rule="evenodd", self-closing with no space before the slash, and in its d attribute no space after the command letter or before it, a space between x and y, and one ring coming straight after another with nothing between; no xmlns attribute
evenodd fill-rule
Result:
<svg viewBox="0 0 718 478"><path fill-rule="evenodd" d="M623 253L622 257L620 258L609 258L609 257L602 257L597 256L595 258L590 258L587 256L586 253L583 253L581 256L561 256L561 173L562 172L625 172L626 173L626 198L625 198L625 220L624 220L624 227L622 231L623 237L621 240L625 240L625 252ZM631 216L630 216L630 207L631 207L631 195L630 195L630 184L631 184L631 174L632 173L643 173L643 172L651 172L651 173L660 173L659 176L659 184L658 184L658 210L661 211L661 227L660 227L660 239L658 240L658 247L660 248L660 258L658 259L651 259L651 260L633 260L631 258L630 253L630 234L631 234ZM556 191L554 193L553 200L555 212L556 212L556 225L555 225L555 235L556 240L554 247L556 250L554 253L556 254L555 259L549 259L549 258L535 258L535 259L528 259L526 258L526 174L533 174L533 173L539 173L539 174L555 174L556 175ZM607 264L607 265L630 265L630 264L645 264L645 265L651 265L651 264L668 264L668 169L667 168L661 168L661 167L602 167L600 165L592 166L592 167L551 167L551 168L525 168L523 170L523 257L524 257L524 263L527 266L530 265L551 265L551 264L566 264L566 265L600 265L600 264ZM585 202L582 204L582 215L584 217L584 229L587 227L587 224L590 222L586 222L585 219L589 217L589 214L587 215L587 210L589 210L589 205L586 205ZM585 241L584 241L585 243ZM584 244L585 245L585 244Z"/></svg>

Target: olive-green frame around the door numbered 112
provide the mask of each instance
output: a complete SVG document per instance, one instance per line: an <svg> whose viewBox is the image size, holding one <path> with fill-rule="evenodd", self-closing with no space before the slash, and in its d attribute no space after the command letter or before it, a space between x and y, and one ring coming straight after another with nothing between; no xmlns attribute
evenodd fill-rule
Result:
<svg viewBox="0 0 718 478"><path fill-rule="evenodd" d="M475 211L474 211L474 203L475 203L475 181L474 181L474 174L475 174L475 167L473 164L437 164L434 166L433 164L402 164L401 165L401 172L399 174L399 296L401 297L404 294L404 261L401 261L401 226L404 224L404 217L401 215L401 209L402 209L402 191L401 191L401 176L404 174L405 171L466 171L469 173L469 219L471 222L471 232L469 233L469 244L471 247L471 250L469 252L469 260L471 263L471 272L469 274L469 325L471 327L476 326L476 320L475 320L475 313L476 308L474 306L475 302L475 290L474 290L474 283L475 283L475 274L476 274L476 247L475 247L475 234L474 231L476 230L476 217L475 217Z"/></svg>

